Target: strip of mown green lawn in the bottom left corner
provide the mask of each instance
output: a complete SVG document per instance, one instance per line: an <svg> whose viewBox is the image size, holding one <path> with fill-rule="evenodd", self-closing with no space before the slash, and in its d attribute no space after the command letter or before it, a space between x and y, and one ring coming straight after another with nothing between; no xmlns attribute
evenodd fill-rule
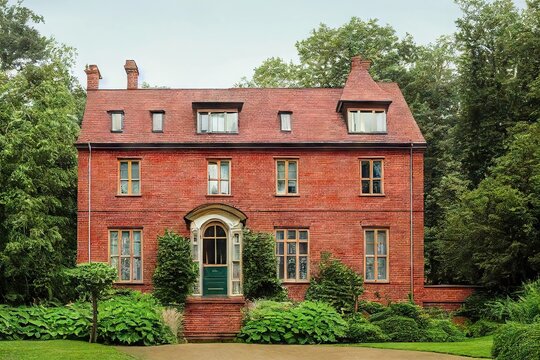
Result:
<svg viewBox="0 0 540 360"><path fill-rule="evenodd" d="M84 341L0 341L2 360L133 360L112 346Z"/></svg>

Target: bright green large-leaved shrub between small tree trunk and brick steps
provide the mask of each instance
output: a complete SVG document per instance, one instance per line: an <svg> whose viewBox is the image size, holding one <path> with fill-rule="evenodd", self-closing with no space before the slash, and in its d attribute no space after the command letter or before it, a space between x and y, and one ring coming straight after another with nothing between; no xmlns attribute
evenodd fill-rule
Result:
<svg viewBox="0 0 540 360"><path fill-rule="evenodd" d="M151 295L118 296L100 304L99 337L108 344L158 345L174 342Z"/></svg>

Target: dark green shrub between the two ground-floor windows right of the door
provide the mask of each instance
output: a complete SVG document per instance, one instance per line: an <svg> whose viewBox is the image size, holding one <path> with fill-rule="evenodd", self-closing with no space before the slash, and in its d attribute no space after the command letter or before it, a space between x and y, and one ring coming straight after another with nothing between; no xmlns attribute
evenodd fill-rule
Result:
<svg viewBox="0 0 540 360"><path fill-rule="evenodd" d="M364 280L341 260L323 253L317 273L311 277L306 300L324 301L340 312L357 310L358 297L364 292Z"/></svg>

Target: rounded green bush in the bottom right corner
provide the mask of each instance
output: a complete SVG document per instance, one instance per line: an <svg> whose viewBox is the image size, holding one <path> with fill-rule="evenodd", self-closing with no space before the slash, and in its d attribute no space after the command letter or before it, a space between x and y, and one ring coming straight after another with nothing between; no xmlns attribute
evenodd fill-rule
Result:
<svg viewBox="0 0 540 360"><path fill-rule="evenodd" d="M491 352L497 360L540 359L540 323L503 325L493 338Z"/></svg>

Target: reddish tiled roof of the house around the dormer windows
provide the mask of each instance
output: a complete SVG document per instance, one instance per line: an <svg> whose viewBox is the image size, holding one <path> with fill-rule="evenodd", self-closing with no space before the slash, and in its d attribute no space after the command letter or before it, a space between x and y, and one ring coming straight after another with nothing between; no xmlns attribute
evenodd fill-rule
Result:
<svg viewBox="0 0 540 360"><path fill-rule="evenodd" d="M340 100L391 101L387 134L349 134L342 113L336 112ZM243 103L238 134L197 134L194 102ZM111 110L124 111L122 133L111 132ZM152 132L152 110L165 111L163 133ZM279 111L292 111L291 132L280 130ZM88 91L77 143L88 142L425 144L398 85L376 83L367 69L355 66L345 88Z"/></svg>

